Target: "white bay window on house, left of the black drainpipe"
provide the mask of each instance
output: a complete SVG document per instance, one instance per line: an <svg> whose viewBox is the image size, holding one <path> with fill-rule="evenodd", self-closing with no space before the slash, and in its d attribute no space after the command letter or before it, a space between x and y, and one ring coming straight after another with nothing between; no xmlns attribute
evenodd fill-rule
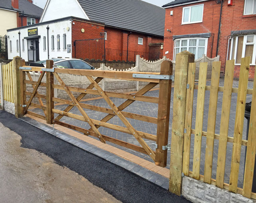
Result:
<svg viewBox="0 0 256 203"><path fill-rule="evenodd" d="M173 61L176 60L176 54L182 51L189 51L194 54L194 59L201 58L207 53L207 38L182 38L175 39Z"/></svg>

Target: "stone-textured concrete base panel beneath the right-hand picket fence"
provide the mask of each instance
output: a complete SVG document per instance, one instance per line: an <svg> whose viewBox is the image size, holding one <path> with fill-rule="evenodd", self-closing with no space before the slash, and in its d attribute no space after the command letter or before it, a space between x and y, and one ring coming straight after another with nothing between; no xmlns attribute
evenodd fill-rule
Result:
<svg viewBox="0 0 256 203"><path fill-rule="evenodd" d="M184 176L181 194L194 203L255 203L252 199Z"/></svg>

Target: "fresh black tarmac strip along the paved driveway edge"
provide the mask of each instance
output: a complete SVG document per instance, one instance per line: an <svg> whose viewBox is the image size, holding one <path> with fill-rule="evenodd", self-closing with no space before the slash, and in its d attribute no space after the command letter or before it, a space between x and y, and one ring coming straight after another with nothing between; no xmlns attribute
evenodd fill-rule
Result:
<svg viewBox="0 0 256 203"><path fill-rule="evenodd" d="M22 148L46 154L59 166L75 171L122 202L189 202L119 166L16 119L12 114L0 111L0 122L22 137Z"/></svg>

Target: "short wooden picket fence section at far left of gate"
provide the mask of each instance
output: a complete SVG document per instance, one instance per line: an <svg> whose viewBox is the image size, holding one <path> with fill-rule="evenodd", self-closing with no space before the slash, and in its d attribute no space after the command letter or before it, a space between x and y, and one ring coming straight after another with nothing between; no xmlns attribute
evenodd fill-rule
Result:
<svg viewBox="0 0 256 203"><path fill-rule="evenodd" d="M8 102L14 102L14 88L13 88L13 65L12 61L6 65L2 65L2 79L4 91L4 100ZM1 101L4 102L4 101Z"/></svg>

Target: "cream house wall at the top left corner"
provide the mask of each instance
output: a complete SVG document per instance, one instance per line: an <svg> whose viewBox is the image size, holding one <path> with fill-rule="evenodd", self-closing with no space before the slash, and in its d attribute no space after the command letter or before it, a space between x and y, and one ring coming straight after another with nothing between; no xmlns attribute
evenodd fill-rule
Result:
<svg viewBox="0 0 256 203"><path fill-rule="evenodd" d="M0 36L6 35L8 29L17 27L17 12L0 8Z"/></svg>

